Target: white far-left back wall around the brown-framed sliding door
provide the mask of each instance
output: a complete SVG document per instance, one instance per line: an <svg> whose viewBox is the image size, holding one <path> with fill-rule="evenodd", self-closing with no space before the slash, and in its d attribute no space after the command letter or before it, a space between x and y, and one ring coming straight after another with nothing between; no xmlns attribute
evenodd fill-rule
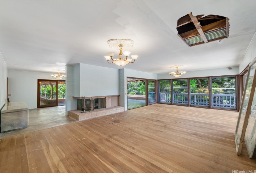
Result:
<svg viewBox="0 0 256 173"><path fill-rule="evenodd" d="M29 109L37 108L37 79L50 79L50 73L11 71L8 77L10 102L25 102ZM65 79L64 79L65 80Z"/></svg>

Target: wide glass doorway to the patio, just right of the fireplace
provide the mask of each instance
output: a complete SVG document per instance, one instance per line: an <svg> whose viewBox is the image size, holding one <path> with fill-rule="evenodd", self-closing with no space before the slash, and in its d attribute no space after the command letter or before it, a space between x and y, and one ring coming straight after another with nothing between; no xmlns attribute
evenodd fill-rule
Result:
<svg viewBox="0 0 256 173"><path fill-rule="evenodd" d="M127 78L127 108L139 108L156 103L156 81Z"/></svg>

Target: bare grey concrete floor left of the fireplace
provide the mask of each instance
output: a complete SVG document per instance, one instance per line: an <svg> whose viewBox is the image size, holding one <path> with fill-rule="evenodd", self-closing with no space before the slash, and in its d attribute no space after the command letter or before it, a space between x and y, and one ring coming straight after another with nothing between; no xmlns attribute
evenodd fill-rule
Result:
<svg viewBox="0 0 256 173"><path fill-rule="evenodd" d="M69 116L65 116L65 106L29 109L28 127L11 132L0 133L0 138L34 132L37 130L47 129L75 121L76 120L70 118Z"/></svg>

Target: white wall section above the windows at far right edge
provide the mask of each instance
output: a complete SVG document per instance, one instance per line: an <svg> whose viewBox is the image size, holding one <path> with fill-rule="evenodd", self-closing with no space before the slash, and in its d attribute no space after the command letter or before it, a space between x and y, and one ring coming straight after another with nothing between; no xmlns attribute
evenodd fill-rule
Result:
<svg viewBox="0 0 256 173"><path fill-rule="evenodd" d="M245 55L239 65L239 73L256 57L256 32L245 52Z"/></svg>

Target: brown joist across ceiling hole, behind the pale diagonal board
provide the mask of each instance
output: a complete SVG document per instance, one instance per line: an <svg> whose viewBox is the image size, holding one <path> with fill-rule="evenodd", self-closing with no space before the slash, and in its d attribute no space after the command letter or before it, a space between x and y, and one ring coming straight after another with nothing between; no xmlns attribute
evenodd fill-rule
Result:
<svg viewBox="0 0 256 173"><path fill-rule="evenodd" d="M226 27L226 23L227 23L226 19L222 19L222 20L219 20L217 22L211 23L209 25L203 26L202 30L203 30L203 32L209 32L209 31L213 31L213 30L216 30L216 29L220 29L220 28ZM180 34L180 36L183 39L187 39L189 37L196 36L196 35L199 35L199 32L198 32L197 29L193 29L191 31L184 32L184 33Z"/></svg>

